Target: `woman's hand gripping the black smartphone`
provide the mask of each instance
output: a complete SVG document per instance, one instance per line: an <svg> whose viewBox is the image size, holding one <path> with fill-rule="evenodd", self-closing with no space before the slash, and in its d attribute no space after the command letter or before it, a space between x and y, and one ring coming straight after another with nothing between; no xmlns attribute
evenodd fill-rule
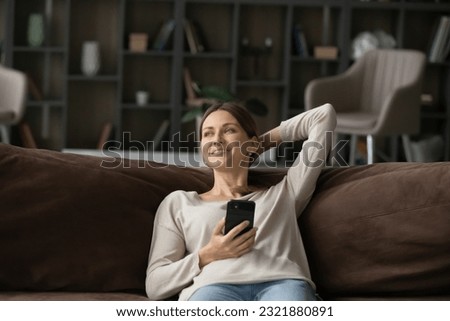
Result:
<svg viewBox="0 0 450 321"><path fill-rule="evenodd" d="M248 221L244 221L224 235L225 218L222 218L214 228L208 244L198 252L200 268L217 260L237 258L248 253L255 244L256 228L237 236L248 224Z"/></svg>

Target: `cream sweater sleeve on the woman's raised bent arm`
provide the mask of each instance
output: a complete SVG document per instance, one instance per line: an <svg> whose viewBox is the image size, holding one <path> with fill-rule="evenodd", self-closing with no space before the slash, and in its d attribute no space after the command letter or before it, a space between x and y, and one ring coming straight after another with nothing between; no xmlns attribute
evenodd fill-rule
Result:
<svg viewBox="0 0 450 321"><path fill-rule="evenodd" d="M296 200L297 215L312 197L333 143L335 127L336 114L330 104L311 109L280 124L283 141L305 140L302 151L287 174L287 185Z"/></svg>

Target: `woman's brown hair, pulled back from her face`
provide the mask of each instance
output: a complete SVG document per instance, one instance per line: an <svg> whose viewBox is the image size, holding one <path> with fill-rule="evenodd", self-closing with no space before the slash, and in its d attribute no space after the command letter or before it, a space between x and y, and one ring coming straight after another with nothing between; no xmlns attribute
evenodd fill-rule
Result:
<svg viewBox="0 0 450 321"><path fill-rule="evenodd" d="M211 105L204 113L201 121L200 121L200 128L199 128L199 134L200 137L199 140L202 139L203 134L203 123L205 122L205 119L213 112L223 110L226 112L229 112L236 120L238 121L239 125L244 129L244 131L247 133L249 138L256 137L258 138L258 127L256 126L255 120L250 115L248 110L242 106L241 104L237 102L219 102Z"/></svg>

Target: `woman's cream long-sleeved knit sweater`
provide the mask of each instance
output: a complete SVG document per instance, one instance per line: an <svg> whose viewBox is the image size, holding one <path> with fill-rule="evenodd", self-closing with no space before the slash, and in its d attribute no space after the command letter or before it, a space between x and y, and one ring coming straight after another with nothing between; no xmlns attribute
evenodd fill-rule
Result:
<svg viewBox="0 0 450 321"><path fill-rule="evenodd" d="M294 278L311 281L297 218L310 200L325 165L336 116L330 104L281 122L283 141L305 140L295 164L280 183L240 199L256 203L258 227L253 249L239 258L214 261L199 268L198 251L227 201L203 201L196 192L175 191L159 206L154 222L146 291L152 300L180 293L187 300L198 288L213 283L257 283ZM328 146L327 146L328 145Z"/></svg>

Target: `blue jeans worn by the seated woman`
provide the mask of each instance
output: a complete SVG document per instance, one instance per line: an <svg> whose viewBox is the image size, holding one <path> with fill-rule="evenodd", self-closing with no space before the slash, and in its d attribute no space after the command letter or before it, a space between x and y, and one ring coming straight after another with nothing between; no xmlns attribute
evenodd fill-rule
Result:
<svg viewBox="0 0 450 321"><path fill-rule="evenodd" d="M254 284L211 284L199 288L189 301L316 301L303 280L283 279Z"/></svg>

